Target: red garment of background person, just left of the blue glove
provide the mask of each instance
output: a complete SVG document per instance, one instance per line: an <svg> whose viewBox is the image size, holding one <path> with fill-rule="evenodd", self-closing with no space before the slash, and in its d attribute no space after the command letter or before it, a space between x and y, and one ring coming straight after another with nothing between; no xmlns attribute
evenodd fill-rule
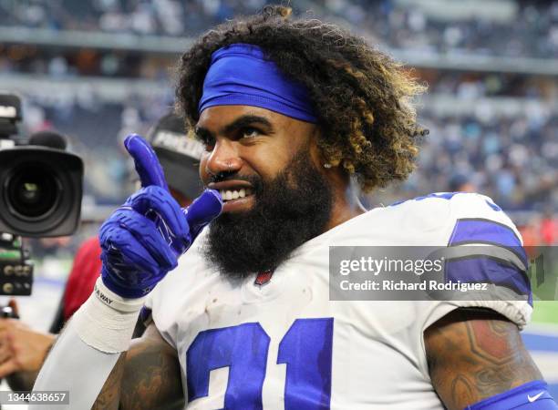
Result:
<svg viewBox="0 0 558 410"><path fill-rule="evenodd" d="M100 244L98 238L84 241L78 249L72 271L67 278L64 293L64 321L74 314L93 292L101 271Z"/></svg>

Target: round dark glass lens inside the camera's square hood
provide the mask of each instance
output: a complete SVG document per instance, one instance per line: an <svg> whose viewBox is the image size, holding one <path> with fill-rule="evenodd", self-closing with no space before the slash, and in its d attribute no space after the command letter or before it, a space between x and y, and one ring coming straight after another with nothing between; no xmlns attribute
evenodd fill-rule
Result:
<svg viewBox="0 0 558 410"><path fill-rule="evenodd" d="M42 219L56 208L59 186L52 170L27 165L6 181L8 205L24 219Z"/></svg>

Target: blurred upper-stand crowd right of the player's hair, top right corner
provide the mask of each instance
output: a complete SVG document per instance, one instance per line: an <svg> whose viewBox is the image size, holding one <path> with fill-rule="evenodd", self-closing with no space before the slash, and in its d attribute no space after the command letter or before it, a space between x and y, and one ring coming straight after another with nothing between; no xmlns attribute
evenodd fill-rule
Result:
<svg viewBox="0 0 558 410"><path fill-rule="evenodd" d="M497 7L481 0L476 4L397 0L317 2L394 48L486 56L558 55L557 1L501 1Z"/></svg>

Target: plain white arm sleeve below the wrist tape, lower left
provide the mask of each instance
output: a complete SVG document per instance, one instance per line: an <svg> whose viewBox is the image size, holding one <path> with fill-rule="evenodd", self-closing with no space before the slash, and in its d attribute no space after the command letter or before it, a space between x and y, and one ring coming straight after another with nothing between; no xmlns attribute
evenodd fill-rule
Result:
<svg viewBox="0 0 558 410"><path fill-rule="evenodd" d="M120 354L107 354L84 343L72 321L47 356L36 378L34 391L67 390L69 405L49 405L50 410L91 408ZM45 405L29 405L29 410L45 410Z"/></svg>

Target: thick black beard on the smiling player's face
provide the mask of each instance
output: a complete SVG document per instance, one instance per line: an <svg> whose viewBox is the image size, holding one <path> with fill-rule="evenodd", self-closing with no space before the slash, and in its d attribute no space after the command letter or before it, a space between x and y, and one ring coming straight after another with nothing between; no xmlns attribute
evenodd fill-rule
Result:
<svg viewBox="0 0 558 410"><path fill-rule="evenodd" d="M307 151L301 149L269 182L259 177L234 179L252 183L253 208L213 220L204 251L228 278L274 270L295 248L325 231L332 189Z"/></svg>

